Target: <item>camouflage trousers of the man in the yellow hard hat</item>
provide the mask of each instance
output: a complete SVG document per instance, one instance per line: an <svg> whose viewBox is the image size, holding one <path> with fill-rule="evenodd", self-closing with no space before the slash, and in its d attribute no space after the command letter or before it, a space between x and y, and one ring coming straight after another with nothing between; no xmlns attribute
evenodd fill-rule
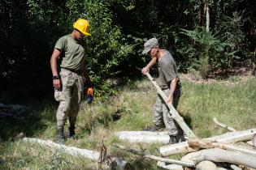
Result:
<svg viewBox="0 0 256 170"><path fill-rule="evenodd" d="M80 102L84 95L85 83L85 78L82 74L61 69L59 75L62 82L62 89L60 91L54 91L54 98L59 101L59 108L56 114L58 129L64 127L67 118L69 125L76 124Z"/></svg>

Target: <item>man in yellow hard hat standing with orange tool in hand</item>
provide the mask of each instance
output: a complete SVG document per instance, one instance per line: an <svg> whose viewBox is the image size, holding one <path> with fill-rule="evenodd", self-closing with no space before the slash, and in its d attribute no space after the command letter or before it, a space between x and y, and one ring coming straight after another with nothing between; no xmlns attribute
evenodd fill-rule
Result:
<svg viewBox="0 0 256 170"><path fill-rule="evenodd" d="M91 36L89 22L78 19L71 34L59 38L50 57L54 98L59 101L56 114L59 142L64 144L64 125L69 121L69 136L75 135L76 117L83 97L84 84L90 82L86 71L84 37ZM59 60L59 63L58 63Z"/></svg>

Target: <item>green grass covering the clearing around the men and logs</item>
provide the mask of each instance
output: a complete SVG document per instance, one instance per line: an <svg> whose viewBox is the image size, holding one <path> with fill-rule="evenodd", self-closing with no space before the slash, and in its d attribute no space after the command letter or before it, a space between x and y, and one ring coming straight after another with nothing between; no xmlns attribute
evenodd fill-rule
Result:
<svg viewBox="0 0 256 170"><path fill-rule="evenodd" d="M198 137L205 138L227 132L217 127L213 117L236 130L255 127L256 79L236 83L192 83L182 80L183 95L178 112ZM67 145L98 151L102 140L111 155L126 159L135 169L155 169L154 160L142 159L111 147L118 142L137 150L159 155L160 144L136 144L120 141L113 133L120 130L144 130L152 126L152 106L156 97L153 85L147 79L129 82L119 89L119 95L106 101L94 100L82 104L76 125L76 139ZM17 134L26 137L51 139L56 142L57 104L36 103L26 113L25 120L0 119L0 169L97 169L97 163L74 157L48 147L24 143ZM66 131L67 131L66 125ZM174 156L172 158L180 158ZM104 168L106 169L106 168Z"/></svg>

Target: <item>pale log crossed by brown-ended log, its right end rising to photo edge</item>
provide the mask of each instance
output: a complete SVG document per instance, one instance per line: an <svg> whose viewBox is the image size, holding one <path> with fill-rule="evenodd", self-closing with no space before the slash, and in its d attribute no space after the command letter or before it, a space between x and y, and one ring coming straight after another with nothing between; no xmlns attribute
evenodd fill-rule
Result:
<svg viewBox="0 0 256 170"><path fill-rule="evenodd" d="M249 141L251 140L251 138L253 138L254 134L256 134L256 129L228 132L226 134L205 138L205 139L212 142L233 143L233 142ZM189 143L187 141L172 144L172 145L167 145L159 148L160 154L162 156L184 154L184 153L197 151L197 150L198 149L196 148L189 147Z"/></svg>

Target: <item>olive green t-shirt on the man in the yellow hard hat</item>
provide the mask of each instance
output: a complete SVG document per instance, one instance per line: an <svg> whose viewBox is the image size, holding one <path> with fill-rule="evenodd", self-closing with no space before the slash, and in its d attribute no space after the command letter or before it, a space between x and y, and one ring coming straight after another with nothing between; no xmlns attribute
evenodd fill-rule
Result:
<svg viewBox="0 0 256 170"><path fill-rule="evenodd" d="M85 42L76 41L69 34L59 38L55 49L62 52L60 67L72 70L85 70Z"/></svg>

